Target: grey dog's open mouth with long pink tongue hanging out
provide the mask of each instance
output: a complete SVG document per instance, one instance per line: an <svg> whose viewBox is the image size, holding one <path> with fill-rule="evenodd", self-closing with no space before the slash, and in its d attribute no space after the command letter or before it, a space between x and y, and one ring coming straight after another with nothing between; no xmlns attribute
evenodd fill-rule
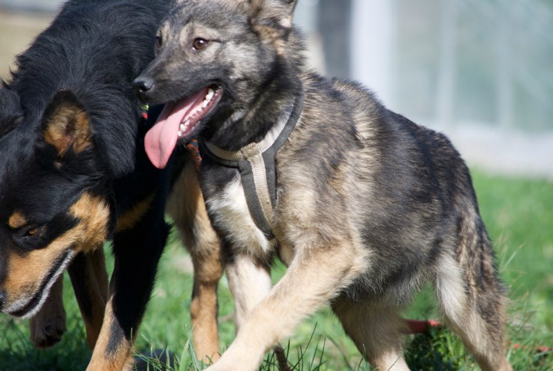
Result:
<svg viewBox="0 0 553 371"><path fill-rule="evenodd" d="M217 105L223 88L211 85L191 97L169 102L144 138L148 157L156 168L165 168L179 139L189 138L200 120Z"/></svg>

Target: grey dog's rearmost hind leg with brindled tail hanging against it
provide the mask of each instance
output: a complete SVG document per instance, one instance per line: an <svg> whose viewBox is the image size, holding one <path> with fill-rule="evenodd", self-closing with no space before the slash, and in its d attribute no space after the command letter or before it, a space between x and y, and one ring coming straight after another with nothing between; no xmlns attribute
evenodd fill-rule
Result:
<svg viewBox="0 0 553 371"><path fill-rule="evenodd" d="M505 289L474 192L463 203L456 241L440 260L435 290L447 323L482 370L511 370L503 356Z"/></svg>

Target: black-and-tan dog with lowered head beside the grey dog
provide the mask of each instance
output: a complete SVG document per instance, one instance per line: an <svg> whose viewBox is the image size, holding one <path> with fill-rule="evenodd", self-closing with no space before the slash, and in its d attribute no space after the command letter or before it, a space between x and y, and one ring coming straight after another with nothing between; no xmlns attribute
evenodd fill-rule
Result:
<svg viewBox="0 0 553 371"><path fill-rule="evenodd" d="M167 237L169 171L144 154L151 125L131 81L153 58L169 5L69 1L0 89L0 309L37 314L68 266L94 348L89 369L131 365Z"/></svg>

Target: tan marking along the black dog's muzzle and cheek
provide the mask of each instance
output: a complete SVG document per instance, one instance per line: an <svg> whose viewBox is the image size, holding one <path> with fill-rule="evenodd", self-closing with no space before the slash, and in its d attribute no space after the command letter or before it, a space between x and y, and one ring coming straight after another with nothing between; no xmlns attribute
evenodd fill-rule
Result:
<svg viewBox="0 0 553 371"><path fill-rule="evenodd" d="M11 253L8 257L9 275L4 282L10 302L30 300L52 266L68 248L75 253L93 251L108 235L109 208L100 197L84 193L71 206L70 215L79 219L74 228L54 239L48 246L25 254Z"/></svg>

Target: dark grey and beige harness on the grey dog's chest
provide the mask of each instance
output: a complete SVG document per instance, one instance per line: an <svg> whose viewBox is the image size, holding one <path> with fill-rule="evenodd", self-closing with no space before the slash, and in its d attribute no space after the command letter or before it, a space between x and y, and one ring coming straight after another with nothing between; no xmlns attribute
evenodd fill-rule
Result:
<svg viewBox="0 0 553 371"><path fill-rule="evenodd" d="M201 154L219 165L238 170L250 215L257 228L268 239L274 238L271 220L273 210L278 203L275 156L296 126L302 107L303 89L294 103L285 109L265 138L259 143L245 145L235 152L223 150L203 139L198 140Z"/></svg>

